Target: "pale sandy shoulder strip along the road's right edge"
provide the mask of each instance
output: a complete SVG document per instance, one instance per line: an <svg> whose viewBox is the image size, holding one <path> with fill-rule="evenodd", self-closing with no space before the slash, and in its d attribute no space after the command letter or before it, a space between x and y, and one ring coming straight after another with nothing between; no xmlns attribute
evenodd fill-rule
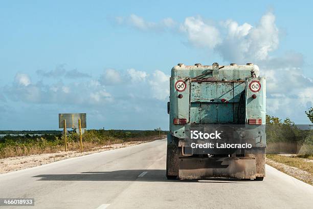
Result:
<svg viewBox="0 0 313 209"><path fill-rule="evenodd" d="M303 171L293 166L285 165L280 162L276 162L275 160L271 160L269 158L266 158L266 164L271 165L275 169L281 172L284 172L285 174L288 174L289 176L293 176L301 181L304 181L313 185L313 176L309 172Z"/></svg>

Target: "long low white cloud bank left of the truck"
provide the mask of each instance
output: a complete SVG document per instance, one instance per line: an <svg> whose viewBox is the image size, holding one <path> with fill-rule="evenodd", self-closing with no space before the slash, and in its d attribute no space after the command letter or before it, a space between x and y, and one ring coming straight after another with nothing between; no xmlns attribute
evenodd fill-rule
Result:
<svg viewBox="0 0 313 209"><path fill-rule="evenodd" d="M84 82L58 81L32 83L27 74L17 73L14 82L2 88L4 99L37 104L66 104L74 106L87 105L90 107L102 106L115 102L121 105L125 101L136 105L140 100L164 100L169 96L169 76L162 71L155 71L151 77L145 71L128 69L120 74L118 71L108 69L99 80L90 79ZM127 82L131 80L130 82ZM124 83L127 85L120 85ZM127 89L127 91L125 91ZM135 106L133 106L135 107ZM128 110L128 109L127 109Z"/></svg>

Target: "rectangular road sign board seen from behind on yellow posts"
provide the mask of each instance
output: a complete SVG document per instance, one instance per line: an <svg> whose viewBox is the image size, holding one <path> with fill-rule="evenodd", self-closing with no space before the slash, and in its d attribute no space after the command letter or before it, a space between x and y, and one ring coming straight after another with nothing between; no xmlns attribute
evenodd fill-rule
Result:
<svg viewBox="0 0 313 209"><path fill-rule="evenodd" d="M66 128L79 128L78 119L81 120L81 128L87 128L86 113L60 113L59 128L64 128L64 120L66 121Z"/></svg>

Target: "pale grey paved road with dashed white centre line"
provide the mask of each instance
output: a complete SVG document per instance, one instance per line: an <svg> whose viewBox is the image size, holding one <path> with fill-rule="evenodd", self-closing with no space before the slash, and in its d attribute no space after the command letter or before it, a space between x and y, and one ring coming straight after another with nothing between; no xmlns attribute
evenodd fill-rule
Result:
<svg viewBox="0 0 313 209"><path fill-rule="evenodd" d="M263 181L180 181L165 178L165 162L166 139L66 159L0 175L0 198L35 198L23 208L313 206L313 186L271 166Z"/></svg>

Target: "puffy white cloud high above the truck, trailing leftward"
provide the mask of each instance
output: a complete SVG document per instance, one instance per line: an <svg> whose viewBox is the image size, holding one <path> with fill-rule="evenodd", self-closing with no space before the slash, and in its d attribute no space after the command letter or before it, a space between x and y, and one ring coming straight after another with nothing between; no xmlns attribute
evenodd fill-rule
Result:
<svg viewBox="0 0 313 209"><path fill-rule="evenodd" d="M237 63L256 62L269 58L269 53L279 45L279 30L275 15L267 12L256 26L249 23L239 25L234 20L220 24L205 20L200 16L186 17L180 28L170 17L159 23L148 22L143 17L131 14L129 17L116 17L116 22L139 30L177 29L186 34L191 45L217 51L224 60ZM177 30L172 30L177 33Z"/></svg>

